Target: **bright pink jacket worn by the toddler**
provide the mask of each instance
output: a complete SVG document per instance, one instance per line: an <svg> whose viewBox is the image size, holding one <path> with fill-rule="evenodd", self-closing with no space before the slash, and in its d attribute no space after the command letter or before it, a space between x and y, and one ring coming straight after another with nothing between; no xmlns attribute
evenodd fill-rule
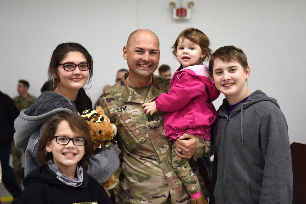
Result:
<svg viewBox="0 0 306 204"><path fill-rule="evenodd" d="M210 125L217 113L212 101L220 91L211 81L208 66L193 65L177 69L170 90L155 100L156 109L164 111L164 129L170 140L184 132L210 139Z"/></svg>

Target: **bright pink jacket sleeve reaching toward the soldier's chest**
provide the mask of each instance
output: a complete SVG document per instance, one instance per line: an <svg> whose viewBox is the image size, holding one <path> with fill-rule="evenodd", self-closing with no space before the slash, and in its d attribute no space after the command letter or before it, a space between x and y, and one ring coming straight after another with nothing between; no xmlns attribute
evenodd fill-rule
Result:
<svg viewBox="0 0 306 204"><path fill-rule="evenodd" d="M164 112L174 112L184 106L194 97L206 95L206 85L198 77L183 72L181 79L171 87L168 94L159 95L156 99L156 109Z"/></svg>

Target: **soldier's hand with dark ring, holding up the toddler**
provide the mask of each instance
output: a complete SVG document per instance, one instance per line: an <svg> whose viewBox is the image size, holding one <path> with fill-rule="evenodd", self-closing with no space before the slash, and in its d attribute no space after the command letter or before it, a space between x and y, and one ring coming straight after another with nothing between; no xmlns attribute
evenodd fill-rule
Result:
<svg viewBox="0 0 306 204"><path fill-rule="evenodd" d="M174 144L174 151L180 158L190 159L194 154L196 154L196 135L183 133L183 135L174 141ZM181 150L183 150L182 154Z"/></svg>

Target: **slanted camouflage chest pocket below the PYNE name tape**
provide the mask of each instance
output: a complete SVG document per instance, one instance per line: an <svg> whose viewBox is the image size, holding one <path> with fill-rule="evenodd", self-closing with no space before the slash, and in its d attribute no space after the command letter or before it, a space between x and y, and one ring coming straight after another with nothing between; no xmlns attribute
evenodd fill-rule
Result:
<svg viewBox="0 0 306 204"><path fill-rule="evenodd" d="M132 118L127 112L123 112L120 115L122 123L118 125L123 125L124 128L120 128L122 131L120 134L120 139L122 140L122 146L129 152L134 151L140 144L144 143L148 138L141 131L141 129L134 123Z"/></svg>

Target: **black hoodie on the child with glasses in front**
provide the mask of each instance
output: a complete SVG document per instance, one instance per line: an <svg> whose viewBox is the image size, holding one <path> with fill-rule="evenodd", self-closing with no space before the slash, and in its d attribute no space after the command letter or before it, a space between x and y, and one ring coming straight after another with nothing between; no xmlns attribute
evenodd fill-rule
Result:
<svg viewBox="0 0 306 204"><path fill-rule="evenodd" d="M23 185L20 204L112 203L101 184L86 171L83 171L82 184L72 187L53 176L47 166L41 166L24 178Z"/></svg>

